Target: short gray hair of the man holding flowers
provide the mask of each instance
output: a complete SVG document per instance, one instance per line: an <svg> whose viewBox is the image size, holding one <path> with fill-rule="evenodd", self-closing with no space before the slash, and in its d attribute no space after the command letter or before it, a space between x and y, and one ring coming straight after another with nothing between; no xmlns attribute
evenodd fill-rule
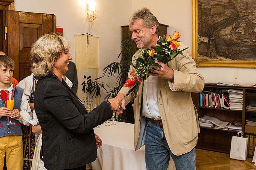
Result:
<svg viewBox="0 0 256 170"><path fill-rule="evenodd" d="M135 22L137 19L143 20L143 25L145 28L151 28L153 25L156 25L156 34L159 35L159 22L148 8L144 7L138 11L135 11L130 17L129 22L133 24L133 22Z"/></svg>

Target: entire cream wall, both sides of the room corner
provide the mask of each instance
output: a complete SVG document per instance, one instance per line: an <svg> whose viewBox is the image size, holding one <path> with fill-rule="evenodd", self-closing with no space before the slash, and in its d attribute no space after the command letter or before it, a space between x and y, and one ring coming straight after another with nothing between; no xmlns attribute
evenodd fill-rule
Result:
<svg viewBox="0 0 256 170"><path fill-rule="evenodd" d="M89 29L84 19L85 0L15 0L16 11L49 13L57 16L57 26L64 28L74 56L74 34L90 33L100 37L100 71L117 60L122 40L120 26L128 25L128 18L141 7L148 7L158 21L169 25L167 33L179 31L180 40L190 49L192 47L192 4L191 0L95 0L98 19ZM74 61L74 59L73 59ZM234 70L238 70L237 83L256 84L256 69L234 67L199 67L205 82L235 83ZM102 75L102 73L100 74ZM113 87L113 79L103 79ZM101 98L103 99L103 98Z"/></svg>

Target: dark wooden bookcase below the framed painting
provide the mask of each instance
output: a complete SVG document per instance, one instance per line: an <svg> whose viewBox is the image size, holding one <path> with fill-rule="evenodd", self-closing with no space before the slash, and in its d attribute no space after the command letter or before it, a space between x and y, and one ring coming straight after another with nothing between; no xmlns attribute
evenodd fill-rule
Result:
<svg viewBox="0 0 256 170"><path fill-rule="evenodd" d="M255 127L255 131L251 130L250 133L245 131L246 119L256 114L256 112L253 112L253 111L246 111L246 106L249 105L252 100L256 101L256 87L205 84L203 91L222 90L222 89L243 90L242 111L225 109L225 108L213 108L213 107L200 106L199 93L192 93L192 99L197 108L198 117L200 118L204 115L208 115L208 116L216 117L222 121L239 121L239 122L242 122L242 131L244 132L244 134L256 136L256 127ZM235 131L235 130L222 130L222 129L200 127L200 133L198 136L198 143L196 148L230 153L231 138L232 136L236 135L237 132L238 131ZM253 157L253 155L247 155L247 156Z"/></svg>

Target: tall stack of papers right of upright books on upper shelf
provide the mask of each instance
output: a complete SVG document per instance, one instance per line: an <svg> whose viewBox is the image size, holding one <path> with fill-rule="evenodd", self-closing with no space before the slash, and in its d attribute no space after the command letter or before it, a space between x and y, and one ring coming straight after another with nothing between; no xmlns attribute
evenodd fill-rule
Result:
<svg viewBox="0 0 256 170"><path fill-rule="evenodd" d="M243 110L243 90L229 89L229 105L230 109Z"/></svg>

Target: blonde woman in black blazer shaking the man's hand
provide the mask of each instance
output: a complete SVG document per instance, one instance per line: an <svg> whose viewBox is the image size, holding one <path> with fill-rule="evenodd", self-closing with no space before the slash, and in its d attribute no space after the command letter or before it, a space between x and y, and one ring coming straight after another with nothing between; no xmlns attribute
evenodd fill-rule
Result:
<svg viewBox="0 0 256 170"><path fill-rule="evenodd" d="M49 170L85 170L97 157L93 128L119 109L118 99L109 99L87 113L62 75L68 71L70 43L56 34L40 37L32 46L32 72L37 82L34 109L42 129L44 166Z"/></svg>

